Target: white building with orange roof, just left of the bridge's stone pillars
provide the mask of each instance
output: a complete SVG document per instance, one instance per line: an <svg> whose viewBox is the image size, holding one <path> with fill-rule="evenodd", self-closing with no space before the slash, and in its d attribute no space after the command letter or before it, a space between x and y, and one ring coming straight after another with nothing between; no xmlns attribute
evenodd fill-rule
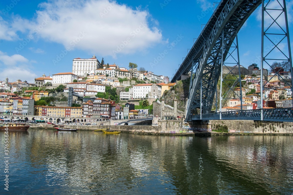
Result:
<svg viewBox="0 0 293 195"><path fill-rule="evenodd" d="M137 84L133 86L133 98L145 98L148 95L148 98L160 98L162 92L162 87L155 83L149 84Z"/></svg>

